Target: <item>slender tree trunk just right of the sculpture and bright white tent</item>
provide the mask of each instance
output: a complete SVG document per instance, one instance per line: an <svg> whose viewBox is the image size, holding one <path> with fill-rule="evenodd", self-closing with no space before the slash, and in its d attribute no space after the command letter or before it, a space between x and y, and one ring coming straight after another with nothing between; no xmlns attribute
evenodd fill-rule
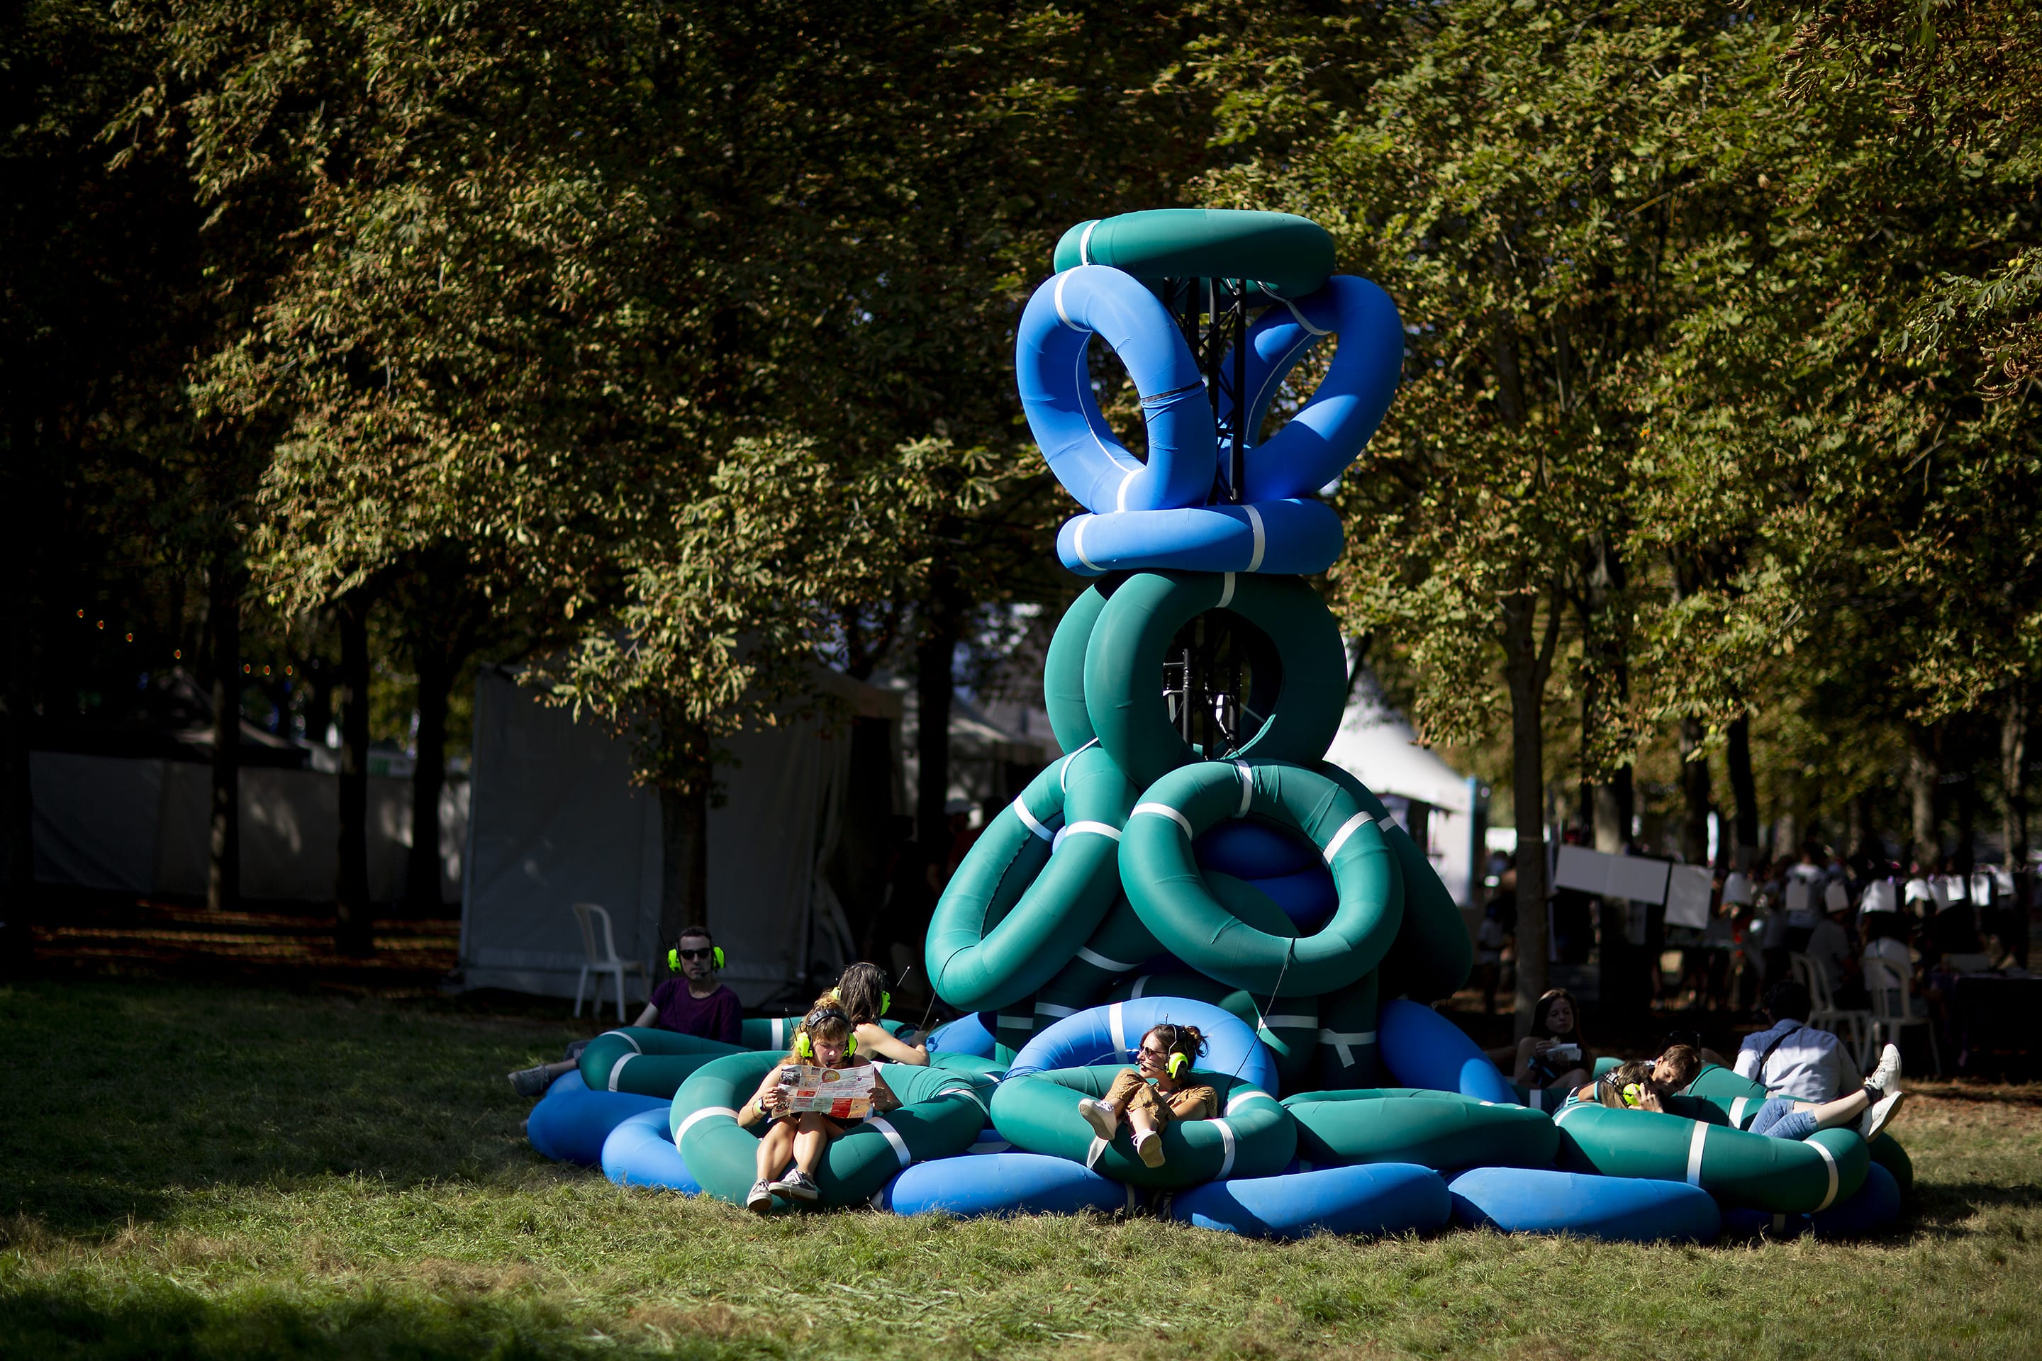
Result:
<svg viewBox="0 0 2042 1361"><path fill-rule="evenodd" d="M1511 692L1511 800L1517 818L1517 1037L1546 992L1546 677L1560 641L1560 610L1534 592L1503 598L1503 673Z"/></svg>

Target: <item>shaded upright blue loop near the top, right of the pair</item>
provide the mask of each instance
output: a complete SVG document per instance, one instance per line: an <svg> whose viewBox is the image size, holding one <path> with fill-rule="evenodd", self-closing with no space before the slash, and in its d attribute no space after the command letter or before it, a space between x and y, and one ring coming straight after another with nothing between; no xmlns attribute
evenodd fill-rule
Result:
<svg viewBox="0 0 2042 1361"><path fill-rule="evenodd" d="M1325 335L1338 335L1340 347L1319 390L1276 435L1248 449L1246 502L1309 496L1338 477L1397 396L1405 341L1397 304L1368 280L1335 273L1315 294L1278 302L1250 329L1250 431L1262 426L1305 349Z"/></svg>

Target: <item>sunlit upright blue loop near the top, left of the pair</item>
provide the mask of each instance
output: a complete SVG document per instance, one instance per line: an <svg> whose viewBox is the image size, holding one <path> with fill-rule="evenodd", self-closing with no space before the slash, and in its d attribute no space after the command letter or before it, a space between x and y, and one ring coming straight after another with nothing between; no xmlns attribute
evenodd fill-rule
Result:
<svg viewBox="0 0 2042 1361"><path fill-rule="evenodd" d="M1095 333L1141 394L1146 463L1099 412L1084 363ZM1219 437L1205 377L1168 308L1131 273L1078 265L1046 280L1021 312L1015 384L1041 457L1086 510L1174 510L1211 494Z"/></svg>

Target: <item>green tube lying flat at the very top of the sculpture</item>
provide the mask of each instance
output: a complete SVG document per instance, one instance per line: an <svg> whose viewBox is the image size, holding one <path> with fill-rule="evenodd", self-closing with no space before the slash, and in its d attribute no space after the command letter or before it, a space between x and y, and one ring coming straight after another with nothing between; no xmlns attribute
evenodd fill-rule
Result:
<svg viewBox="0 0 2042 1361"><path fill-rule="evenodd" d="M1113 265L1139 280L1246 280L1250 302L1303 298L1333 273L1333 237L1293 212L1152 208L1066 231L1052 267Z"/></svg>

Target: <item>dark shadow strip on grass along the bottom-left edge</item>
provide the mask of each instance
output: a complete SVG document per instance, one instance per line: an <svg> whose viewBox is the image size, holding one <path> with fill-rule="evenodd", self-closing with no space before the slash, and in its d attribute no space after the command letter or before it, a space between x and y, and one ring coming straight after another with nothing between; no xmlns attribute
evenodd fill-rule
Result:
<svg viewBox="0 0 2042 1361"><path fill-rule="evenodd" d="M404 1357L758 1357L760 1339L678 1326L606 1337L586 1320L525 1300L394 1296L304 1300L282 1290L204 1300L165 1281L118 1292L0 1290L0 1355L190 1357L235 1361Z"/></svg>

